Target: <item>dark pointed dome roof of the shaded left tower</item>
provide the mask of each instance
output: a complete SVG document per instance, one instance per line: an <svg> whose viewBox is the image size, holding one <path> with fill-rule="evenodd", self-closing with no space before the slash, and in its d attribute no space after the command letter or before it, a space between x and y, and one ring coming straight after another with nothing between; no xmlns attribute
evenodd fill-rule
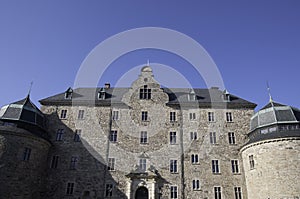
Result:
<svg viewBox="0 0 300 199"><path fill-rule="evenodd" d="M0 119L20 121L44 127L43 113L31 102L29 95L0 109Z"/></svg>

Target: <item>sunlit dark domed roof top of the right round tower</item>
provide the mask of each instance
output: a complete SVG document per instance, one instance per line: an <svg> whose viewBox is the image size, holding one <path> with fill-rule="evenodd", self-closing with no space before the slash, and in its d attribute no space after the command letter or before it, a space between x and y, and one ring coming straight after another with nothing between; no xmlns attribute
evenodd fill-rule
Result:
<svg viewBox="0 0 300 199"><path fill-rule="evenodd" d="M271 101L252 116L250 131L272 124L283 123L300 123L300 110Z"/></svg>

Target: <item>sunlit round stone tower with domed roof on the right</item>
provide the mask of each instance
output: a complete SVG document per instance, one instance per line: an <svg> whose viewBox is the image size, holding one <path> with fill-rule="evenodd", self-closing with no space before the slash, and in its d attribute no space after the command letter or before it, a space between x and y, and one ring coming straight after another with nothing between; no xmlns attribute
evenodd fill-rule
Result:
<svg viewBox="0 0 300 199"><path fill-rule="evenodd" d="M248 199L300 198L300 110L270 100L241 149Z"/></svg>

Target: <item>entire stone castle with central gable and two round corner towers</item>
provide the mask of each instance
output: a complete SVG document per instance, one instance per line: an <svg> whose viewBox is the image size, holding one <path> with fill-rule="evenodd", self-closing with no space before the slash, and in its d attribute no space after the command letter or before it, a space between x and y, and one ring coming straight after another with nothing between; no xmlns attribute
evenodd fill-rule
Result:
<svg viewBox="0 0 300 199"><path fill-rule="evenodd" d="M1 199L299 199L300 110L210 89L69 88L0 110Z"/></svg>

